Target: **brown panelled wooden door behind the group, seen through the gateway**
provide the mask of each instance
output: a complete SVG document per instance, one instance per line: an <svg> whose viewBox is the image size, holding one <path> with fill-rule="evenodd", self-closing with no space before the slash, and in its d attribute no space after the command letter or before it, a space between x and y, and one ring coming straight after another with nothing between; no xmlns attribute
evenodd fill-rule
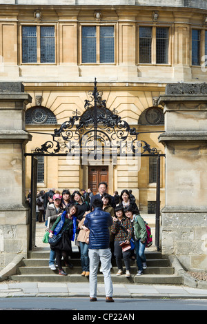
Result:
<svg viewBox="0 0 207 324"><path fill-rule="evenodd" d="M88 188L92 190L93 194L97 194L99 191L98 188L101 181L108 183L108 166L88 166Z"/></svg>

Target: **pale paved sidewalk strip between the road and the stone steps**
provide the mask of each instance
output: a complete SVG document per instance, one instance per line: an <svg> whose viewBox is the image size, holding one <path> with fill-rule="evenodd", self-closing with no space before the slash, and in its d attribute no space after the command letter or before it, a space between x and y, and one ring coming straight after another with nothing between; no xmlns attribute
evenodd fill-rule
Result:
<svg viewBox="0 0 207 324"><path fill-rule="evenodd" d="M114 284L117 298L201 298L207 290L179 285ZM1 283L2 297L89 297L89 283ZM103 284L98 284L97 297L104 297Z"/></svg>

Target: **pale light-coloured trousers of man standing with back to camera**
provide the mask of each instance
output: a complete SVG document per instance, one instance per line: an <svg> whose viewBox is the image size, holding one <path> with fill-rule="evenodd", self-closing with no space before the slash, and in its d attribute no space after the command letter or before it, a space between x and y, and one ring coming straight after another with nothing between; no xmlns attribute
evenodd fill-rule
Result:
<svg viewBox="0 0 207 324"><path fill-rule="evenodd" d="M113 285L110 276L110 249L89 249L88 251L90 259L90 297L97 297L97 272L99 267L99 261L101 261L101 267L103 270L106 297L112 297Z"/></svg>

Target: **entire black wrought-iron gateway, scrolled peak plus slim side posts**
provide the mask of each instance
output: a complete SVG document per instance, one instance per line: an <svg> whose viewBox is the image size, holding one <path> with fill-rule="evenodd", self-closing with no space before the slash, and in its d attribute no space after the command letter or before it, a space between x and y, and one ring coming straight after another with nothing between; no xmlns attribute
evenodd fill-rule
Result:
<svg viewBox="0 0 207 324"><path fill-rule="evenodd" d="M160 157L165 154L159 154L156 148L150 148L146 141L139 141L138 135L141 132L130 128L130 125L117 115L116 110L111 111L106 108L106 100L102 100L103 93L97 90L96 79L94 89L88 94L90 99L85 100L86 111L82 115L75 110L68 121L50 134L52 136L50 141L46 141L40 148L36 148L34 153L26 153L25 156L32 156L32 163L34 163L34 156L76 156L82 161L88 160L88 156L92 156L95 161L103 157L110 161L117 156L135 158L157 156L155 245L159 250ZM31 176L31 181L34 183L33 172ZM34 203L36 200L32 199L32 206ZM33 210L32 207L31 210ZM32 218L31 212L31 222Z"/></svg>

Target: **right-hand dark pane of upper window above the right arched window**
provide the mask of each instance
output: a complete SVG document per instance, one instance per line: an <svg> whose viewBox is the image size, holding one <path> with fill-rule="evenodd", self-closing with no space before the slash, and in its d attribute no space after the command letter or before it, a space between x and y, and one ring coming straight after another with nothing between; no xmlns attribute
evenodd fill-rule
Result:
<svg viewBox="0 0 207 324"><path fill-rule="evenodd" d="M156 63L168 63L168 28L156 28Z"/></svg>

